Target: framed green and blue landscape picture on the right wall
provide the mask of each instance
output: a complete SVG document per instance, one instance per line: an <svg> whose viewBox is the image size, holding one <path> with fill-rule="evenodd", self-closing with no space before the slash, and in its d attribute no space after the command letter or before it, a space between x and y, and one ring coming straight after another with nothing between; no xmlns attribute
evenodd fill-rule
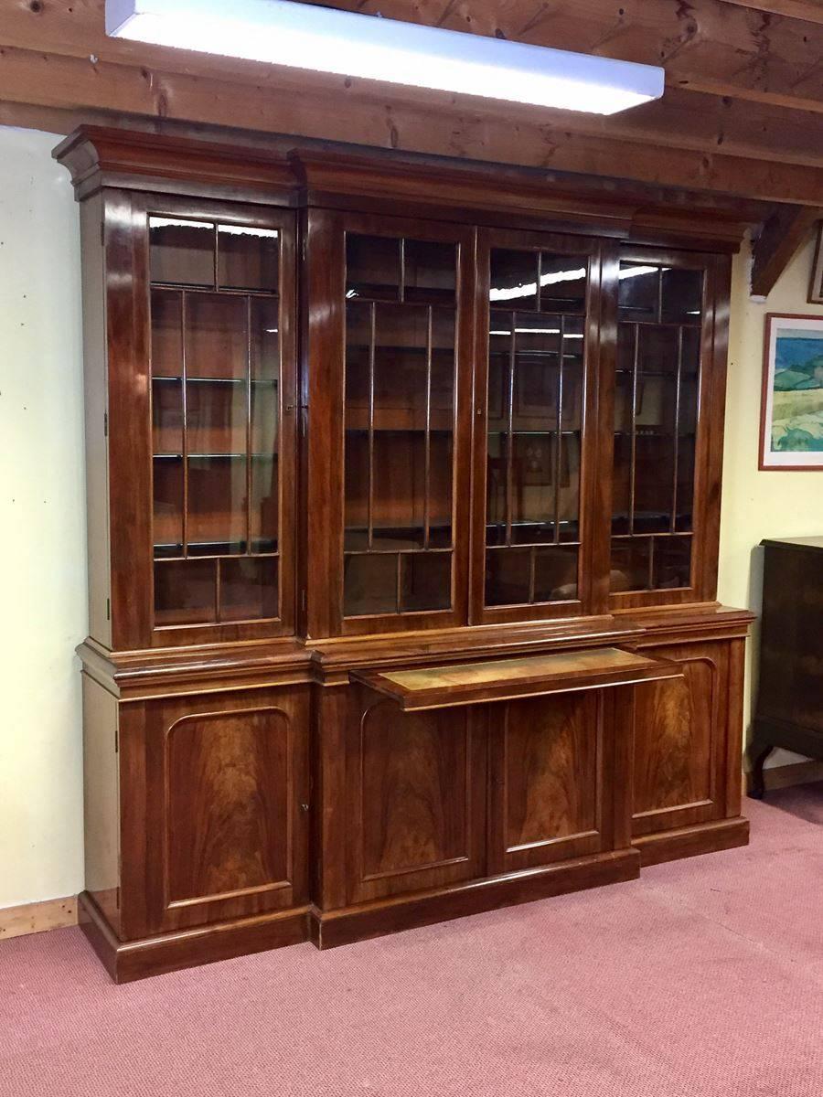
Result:
<svg viewBox="0 0 823 1097"><path fill-rule="evenodd" d="M759 467L823 470L823 317L766 316Z"/></svg>

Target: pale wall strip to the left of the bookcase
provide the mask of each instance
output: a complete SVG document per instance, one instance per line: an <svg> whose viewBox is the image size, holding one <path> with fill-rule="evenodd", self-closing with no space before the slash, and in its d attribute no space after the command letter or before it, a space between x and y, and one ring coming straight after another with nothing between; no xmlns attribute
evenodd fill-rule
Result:
<svg viewBox="0 0 823 1097"><path fill-rule="evenodd" d="M0 907L82 887L79 224L58 139L0 127Z"/></svg>

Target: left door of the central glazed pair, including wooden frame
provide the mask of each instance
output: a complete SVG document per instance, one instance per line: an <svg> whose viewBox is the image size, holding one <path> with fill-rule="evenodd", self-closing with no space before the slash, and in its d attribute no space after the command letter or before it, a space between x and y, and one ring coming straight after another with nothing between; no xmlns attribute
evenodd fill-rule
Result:
<svg viewBox="0 0 823 1097"><path fill-rule="evenodd" d="M313 637L465 623L473 239L308 214Z"/></svg>

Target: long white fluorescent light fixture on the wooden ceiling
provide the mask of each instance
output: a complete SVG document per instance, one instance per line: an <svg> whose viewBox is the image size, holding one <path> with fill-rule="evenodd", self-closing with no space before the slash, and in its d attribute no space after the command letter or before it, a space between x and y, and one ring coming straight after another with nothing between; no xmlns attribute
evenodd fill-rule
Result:
<svg viewBox="0 0 823 1097"><path fill-rule="evenodd" d="M652 65L573 54L292 0L106 0L105 32L158 46L616 114L659 99Z"/></svg>

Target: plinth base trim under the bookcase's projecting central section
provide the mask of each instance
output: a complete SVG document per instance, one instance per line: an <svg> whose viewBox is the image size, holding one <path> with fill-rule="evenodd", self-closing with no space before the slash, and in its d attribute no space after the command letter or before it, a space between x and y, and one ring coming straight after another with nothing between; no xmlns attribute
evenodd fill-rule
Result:
<svg viewBox="0 0 823 1097"><path fill-rule="evenodd" d="M640 855L635 849L595 853L543 868L472 880L416 895L394 896L338 911L313 908L309 915L311 939L318 949L336 948L338 945L350 945L352 941L382 937L417 926L430 926L501 906L515 906L587 887L636 880L639 875Z"/></svg>

